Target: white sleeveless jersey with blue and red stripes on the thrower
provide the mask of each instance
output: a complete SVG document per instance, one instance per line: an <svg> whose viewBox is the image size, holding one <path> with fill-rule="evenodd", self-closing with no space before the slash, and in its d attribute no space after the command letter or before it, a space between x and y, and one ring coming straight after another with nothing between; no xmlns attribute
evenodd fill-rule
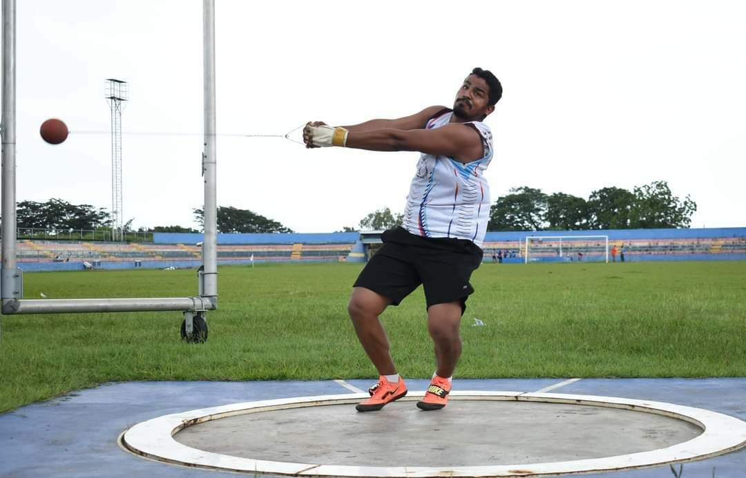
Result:
<svg viewBox="0 0 746 478"><path fill-rule="evenodd" d="M452 115L436 116L425 128L448 125ZM421 154L404 208L404 229L417 236L467 239L481 247L489 221L489 185L483 174L492 160L492 132L483 122L465 125L482 137L484 157L463 164Z"/></svg>

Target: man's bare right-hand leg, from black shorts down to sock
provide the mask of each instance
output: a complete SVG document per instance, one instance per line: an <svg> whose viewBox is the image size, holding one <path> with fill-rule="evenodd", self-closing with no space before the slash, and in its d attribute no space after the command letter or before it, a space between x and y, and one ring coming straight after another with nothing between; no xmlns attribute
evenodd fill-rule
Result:
<svg viewBox="0 0 746 478"><path fill-rule="evenodd" d="M427 309L427 331L435 344L436 374L451 377L461 356L461 303L435 304Z"/></svg>

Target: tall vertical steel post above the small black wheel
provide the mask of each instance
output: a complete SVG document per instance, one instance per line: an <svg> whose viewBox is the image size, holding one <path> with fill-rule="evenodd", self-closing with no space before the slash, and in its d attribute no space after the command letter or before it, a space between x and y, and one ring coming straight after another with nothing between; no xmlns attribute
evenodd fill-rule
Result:
<svg viewBox="0 0 746 478"><path fill-rule="evenodd" d="M215 121L215 0L203 0L203 69L204 69L204 241L200 295L218 295L218 218L216 189L216 121Z"/></svg>

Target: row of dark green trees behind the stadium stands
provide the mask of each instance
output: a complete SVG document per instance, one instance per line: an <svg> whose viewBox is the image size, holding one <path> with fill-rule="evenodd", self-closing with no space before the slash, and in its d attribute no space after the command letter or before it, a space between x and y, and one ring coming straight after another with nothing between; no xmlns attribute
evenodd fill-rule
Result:
<svg viewBox="0 0 746 478"><path fill-rule="evenodd" d="M689 227L697 204L689 195L677 198L665 181L635 186L632 191L618 187L597 189L587 199L564 192L546 194L541 189L521 186L510 189L489 208L488 231L498 230L598 230ZM192 210L204 227L204 210ZM369 213L358 227L342 230L385 230L401 225L403 215L388 207ZM21 201L16 207L19 228L54 230L110 229L111 216L104 208L70 204L52 198L40 203ZM125 232L131 231L130 219ZM292 229L271 218L236 207L218 207L220 233L292 233ZM198 233L180 225L140 227L138 232Z"/></svg>

